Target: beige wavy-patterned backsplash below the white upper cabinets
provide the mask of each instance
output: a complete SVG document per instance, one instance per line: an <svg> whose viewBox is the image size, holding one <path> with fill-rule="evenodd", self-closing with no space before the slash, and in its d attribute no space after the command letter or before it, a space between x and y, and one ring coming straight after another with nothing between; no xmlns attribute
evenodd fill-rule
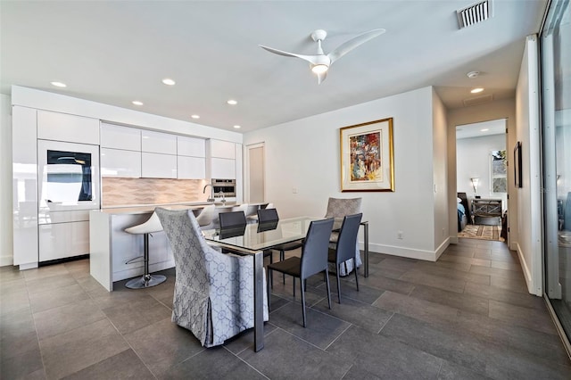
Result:
<svg viewBox="0 0 571 380"><path fill-rule="evenodd" d="M205 202L210 187L203 194L205 179L102 178L102 207L135 204Z"/></svg>

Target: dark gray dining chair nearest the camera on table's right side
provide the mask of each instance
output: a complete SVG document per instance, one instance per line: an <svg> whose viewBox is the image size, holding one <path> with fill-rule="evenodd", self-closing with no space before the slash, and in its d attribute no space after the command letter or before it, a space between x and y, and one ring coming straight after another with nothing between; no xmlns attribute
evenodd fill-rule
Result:
<svg viewBox="0 0 571 380"><path fill-rule="evenodd" d="M300 287L302 290L303 327L307 326L305 317L305 280L307 278L320 272L325 272L327 301L329 302L329 309L331 309L331 290L329 288L329 270L327 266L327 245L329 243L329 235L331 235L331 230L333 228L333 222L333 218L313 220L310 223L310 228L303 240L302 257L294 256L268 265L270 280L272 277L272 271L274 270L293 276L294 289L295 278L297 277L300 279Z"/></svg>

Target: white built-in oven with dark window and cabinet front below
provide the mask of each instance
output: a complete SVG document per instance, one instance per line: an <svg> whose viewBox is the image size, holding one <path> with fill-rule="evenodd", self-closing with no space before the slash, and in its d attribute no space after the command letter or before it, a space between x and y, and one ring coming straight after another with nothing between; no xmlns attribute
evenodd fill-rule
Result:
<svg viewBox="0 0 571 380"><path fill-rule="evenodd" d="M89 210L99 209L99 146L37 140L38 261L89 253Z"/></svg>

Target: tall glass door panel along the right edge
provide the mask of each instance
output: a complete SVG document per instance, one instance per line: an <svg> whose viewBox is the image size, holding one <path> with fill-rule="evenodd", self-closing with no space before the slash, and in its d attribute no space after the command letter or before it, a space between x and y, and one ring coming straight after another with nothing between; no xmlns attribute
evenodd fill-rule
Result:
<svg viewBox="0 0 571 380"><path fill-rule="evenodd" d="M571 28L550 3L541 36L545 293L571 337Z"/></svg>

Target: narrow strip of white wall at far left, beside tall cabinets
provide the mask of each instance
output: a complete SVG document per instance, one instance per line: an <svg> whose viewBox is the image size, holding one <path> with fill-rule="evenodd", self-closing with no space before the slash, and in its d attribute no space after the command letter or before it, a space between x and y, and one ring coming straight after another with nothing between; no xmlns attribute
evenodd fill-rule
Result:
<svg viewBox="0 0 571 380"><path fill-rule="evenodd" d="M0 94L0 267L12 265L12 105Z"/></svg>

